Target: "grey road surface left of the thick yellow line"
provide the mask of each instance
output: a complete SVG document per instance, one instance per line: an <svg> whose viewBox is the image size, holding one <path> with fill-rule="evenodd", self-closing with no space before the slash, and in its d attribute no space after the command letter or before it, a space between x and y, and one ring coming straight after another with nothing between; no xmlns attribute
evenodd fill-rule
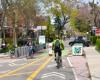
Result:
<svg viewBox="0 0 100 80"><path fill-rule="evenodd" d="M0 80L27 80L49 58L47 54L43 53L33 59L4 59L4 62L1 60Z"/></svg>

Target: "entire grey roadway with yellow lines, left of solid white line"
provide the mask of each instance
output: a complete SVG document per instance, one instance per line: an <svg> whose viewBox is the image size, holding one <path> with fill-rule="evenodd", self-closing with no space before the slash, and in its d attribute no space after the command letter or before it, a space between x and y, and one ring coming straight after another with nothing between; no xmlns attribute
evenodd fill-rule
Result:
<svg viewBox="0 0 100 80"><path fill-rule="evenodd" d="M33 59L4 59L0 62L0 80L75 80L66 57L69 48L66 46L63 51L63 67L60 69L56 68L53 56L48 56L47 51Z"/></svg>

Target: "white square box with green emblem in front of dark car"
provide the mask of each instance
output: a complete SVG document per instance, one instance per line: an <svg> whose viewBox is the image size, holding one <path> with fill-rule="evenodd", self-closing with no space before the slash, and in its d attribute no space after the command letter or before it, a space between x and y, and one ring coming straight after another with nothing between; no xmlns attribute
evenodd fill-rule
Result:
<svg viewBox="0 0 100 80"><path fill-rule="evenodd" d="M83 44L74 44L72 46L72 54L73 55L82 55L83 54Z"/></svg>

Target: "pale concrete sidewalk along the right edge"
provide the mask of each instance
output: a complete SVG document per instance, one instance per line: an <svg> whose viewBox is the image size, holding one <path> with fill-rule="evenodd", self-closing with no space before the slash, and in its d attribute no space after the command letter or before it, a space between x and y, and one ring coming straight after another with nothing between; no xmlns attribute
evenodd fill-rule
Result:
<svg viewBox="0 0 100 80"><path fill-rule="evenodd" d="M84 48L92 80L100 80L100 53L95 47Z"/></svg>

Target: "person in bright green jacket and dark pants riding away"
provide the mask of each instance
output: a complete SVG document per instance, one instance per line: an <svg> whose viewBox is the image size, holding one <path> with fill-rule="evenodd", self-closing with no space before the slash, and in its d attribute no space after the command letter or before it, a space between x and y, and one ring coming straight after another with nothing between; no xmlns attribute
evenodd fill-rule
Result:
<svg viewBox="0 0 100 80"><path fill-rule="evenodd" d="M58 53L58 56L62 56L62 50L64 50L64 43L63 40L61 40L59 37L56 37L56 40L53 41L52 49L54 50L55 54L55 60L56 60L56 54Z"/></svg>

